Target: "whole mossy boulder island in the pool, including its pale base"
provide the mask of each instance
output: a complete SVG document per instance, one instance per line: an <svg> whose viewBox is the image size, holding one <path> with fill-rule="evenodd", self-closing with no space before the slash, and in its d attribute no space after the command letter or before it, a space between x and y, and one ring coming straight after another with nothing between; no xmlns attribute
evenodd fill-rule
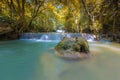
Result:
<svg viewBox="0 0 120 80"><path fill-rule="evenodd" d="M63 38L56 46L57 55L65 59L84 59L89 53L89 45L82 37Z"/></svg>

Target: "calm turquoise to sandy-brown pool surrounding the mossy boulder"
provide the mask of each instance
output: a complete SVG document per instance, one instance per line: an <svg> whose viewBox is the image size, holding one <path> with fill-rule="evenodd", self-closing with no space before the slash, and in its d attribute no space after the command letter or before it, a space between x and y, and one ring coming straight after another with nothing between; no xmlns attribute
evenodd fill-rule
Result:
<svg viewBox="0 0 120 80"><path fill-rule="evenodd" d="M64 60L57 42L0 42L0 80L120 80L120 45L91 42L92 56Z"/></svg>

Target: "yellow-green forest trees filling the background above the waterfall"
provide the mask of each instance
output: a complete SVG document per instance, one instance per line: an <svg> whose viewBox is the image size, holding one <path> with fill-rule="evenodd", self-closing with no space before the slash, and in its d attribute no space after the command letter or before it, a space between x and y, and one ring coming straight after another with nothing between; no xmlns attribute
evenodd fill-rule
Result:
<svg viewBox="0 0 120 80"><path fill-rule="evenodd" d="M0 0L0 31L119 34L120 0Z"/></svg>

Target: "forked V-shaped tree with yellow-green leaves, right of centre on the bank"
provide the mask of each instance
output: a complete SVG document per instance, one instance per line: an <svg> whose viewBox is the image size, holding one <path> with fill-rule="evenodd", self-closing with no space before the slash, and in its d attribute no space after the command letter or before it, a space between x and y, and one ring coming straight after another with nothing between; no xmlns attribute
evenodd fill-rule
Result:
<svg viewBox="0 0 120 80"><path fill-rule="evenodd" d="M98 35L99 30L102 29L100 17L104 10L101 10L103 0L81 0L83 8L89 17L90 29L93 30L94 34Z"/></svg>

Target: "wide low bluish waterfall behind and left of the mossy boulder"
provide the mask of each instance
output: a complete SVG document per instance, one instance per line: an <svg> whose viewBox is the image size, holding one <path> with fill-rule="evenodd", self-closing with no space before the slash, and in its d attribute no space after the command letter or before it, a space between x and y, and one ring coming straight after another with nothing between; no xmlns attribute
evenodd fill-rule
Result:
<svg viewBox="0 0 120 80"><path fill-rule="evenodd" d="M20 40L34 40L34 41L60 41L64 37L82 37L80 33L24 33L21 34Z"/></svg>

